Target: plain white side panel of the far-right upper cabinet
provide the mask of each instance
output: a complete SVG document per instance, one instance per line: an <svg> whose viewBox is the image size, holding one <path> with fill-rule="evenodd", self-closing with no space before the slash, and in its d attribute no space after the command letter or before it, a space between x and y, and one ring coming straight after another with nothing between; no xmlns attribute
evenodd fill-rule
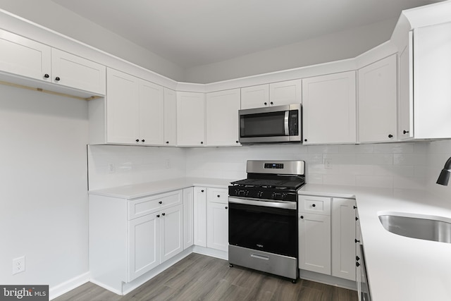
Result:
<svg viewBox="0 0 451 301"><path fill-rule="evenodd" d="M414 138L450 138L451 23L414 29L413 43Z"/></svg>

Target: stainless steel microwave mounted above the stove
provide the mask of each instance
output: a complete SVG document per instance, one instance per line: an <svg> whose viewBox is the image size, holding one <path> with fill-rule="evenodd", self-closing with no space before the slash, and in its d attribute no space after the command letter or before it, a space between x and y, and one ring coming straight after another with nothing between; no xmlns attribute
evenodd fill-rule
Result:
<svg viewBox="0 0 451 301"><path fill-rule="evenodd" d="M301 104L238 111L240 143L301 142Z"/></svg>

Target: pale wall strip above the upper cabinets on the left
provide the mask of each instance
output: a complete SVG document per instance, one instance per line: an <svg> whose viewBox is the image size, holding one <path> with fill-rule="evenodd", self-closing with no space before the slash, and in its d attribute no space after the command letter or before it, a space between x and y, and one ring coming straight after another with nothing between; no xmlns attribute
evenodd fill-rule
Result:
<svg viewBox="0 0 451 301"><path fill-rule="evenodd" d="M185 70L177 64L51 0L0 0L0 8L173 80L184 80Z"/></svg>

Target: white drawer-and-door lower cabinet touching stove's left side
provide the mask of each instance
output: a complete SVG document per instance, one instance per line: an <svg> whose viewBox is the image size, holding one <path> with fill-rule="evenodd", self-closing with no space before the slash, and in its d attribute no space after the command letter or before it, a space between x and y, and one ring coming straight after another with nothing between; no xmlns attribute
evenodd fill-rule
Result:
<svg viewBox="0 0 451 301"><path fill-rule="evenodd" d="M206 246L228 251L228 190L207 188Z"/></svg>

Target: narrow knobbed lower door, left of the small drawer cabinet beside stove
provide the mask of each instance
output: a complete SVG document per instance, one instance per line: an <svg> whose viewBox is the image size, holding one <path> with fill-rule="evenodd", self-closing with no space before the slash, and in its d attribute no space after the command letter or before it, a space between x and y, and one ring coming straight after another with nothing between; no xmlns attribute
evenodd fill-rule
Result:
<svg viewBox="0 0 451 301"><path fill-rule="evenodd" d="M206 247L206 188L194 187L194 245Z"/></svg>

